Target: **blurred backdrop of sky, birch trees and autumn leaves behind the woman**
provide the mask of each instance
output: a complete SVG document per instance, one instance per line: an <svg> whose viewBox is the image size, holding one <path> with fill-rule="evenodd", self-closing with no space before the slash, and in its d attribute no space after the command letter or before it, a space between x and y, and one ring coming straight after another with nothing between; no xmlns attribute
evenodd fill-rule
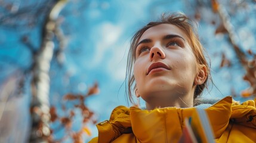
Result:
<svg viewBox="0 0 256 143"><path fill-rule="evenodd" d="M255 98L254 0L0 0L0 142L97 136L95 123L129 105L132 35L177 11L199 22L208 52L214 84L202 97Z"/></svg>

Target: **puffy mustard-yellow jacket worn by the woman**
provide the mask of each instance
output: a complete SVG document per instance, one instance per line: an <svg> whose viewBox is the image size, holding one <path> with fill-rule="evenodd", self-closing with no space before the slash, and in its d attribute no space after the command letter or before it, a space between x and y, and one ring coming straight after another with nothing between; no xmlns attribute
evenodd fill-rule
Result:
<svg viewBox="0 0 256 143"><path fill-rule="evenodd" d="M226 97L205 109L215 142L256 142L255 100L239 104ZM98 123L98 137L90 142L178 142L184 119L192 116L192 108L116 107L110 120Z"/></svg>

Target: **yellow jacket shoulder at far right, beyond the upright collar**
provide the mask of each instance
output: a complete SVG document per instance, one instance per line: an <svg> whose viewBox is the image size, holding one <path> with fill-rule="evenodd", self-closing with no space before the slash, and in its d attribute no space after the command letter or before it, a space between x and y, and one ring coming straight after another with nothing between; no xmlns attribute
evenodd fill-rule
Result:
<svg viewBox="0 0 256 143"><path fill-rule="evenodd" d="M233 101L232 114L226 133L221 142L255 142L256 141L256 107L255 100L240 104ZM226 134L226 135L225 135Z"/></svg>

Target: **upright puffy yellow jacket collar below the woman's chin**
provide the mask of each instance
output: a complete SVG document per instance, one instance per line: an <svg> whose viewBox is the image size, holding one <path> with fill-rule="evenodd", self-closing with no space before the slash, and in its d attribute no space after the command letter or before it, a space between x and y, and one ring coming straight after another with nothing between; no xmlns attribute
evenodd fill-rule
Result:
<svg viewBox="0 0 256 143"><path fill-rule="evenodd" d="M218 101L205 111L209 116L215 138L221 136L229 124L231 116L232 98L226 97ZM192 116L196 108L156 108L155 110L141 110L130 108L131 126L134 135L141 142L178 142L184 126L184 119ZM221 117L221 118L220 118Z"/></svg>

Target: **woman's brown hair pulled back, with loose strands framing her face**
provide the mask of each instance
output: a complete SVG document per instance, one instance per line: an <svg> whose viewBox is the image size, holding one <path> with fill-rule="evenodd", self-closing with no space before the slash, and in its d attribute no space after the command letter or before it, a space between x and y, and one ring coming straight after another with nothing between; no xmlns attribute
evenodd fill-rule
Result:
<svg viewBox="0 0 256 143"><path fill-rule="evenodd" d="M134 91L135 86L134 85L134 74L133 74L133 66L135 61L135 51L137 48L137 43L140 37L143 35L143 33L149 29L150 27L157 26L159 24L173 24L177 27L179 27L188 37L189 39L189 45L192 48L192 51L196 58L196 63L202 64L206 66L207 69L207 77L205 82L202 85L197 85L195 92L194 92L194 100L198 97L198 95L202 94L203 89L206 86L206 82L208 80L208 77L211 77L211 74L209 72L209 66L206 61L206 58L203 54L204 48L201 45L201 42L199 41L198 35L197 35L197 28L198 24L195 21L190 20L189 17L187 17L183 13L172 13L169 15L163 14L160 21L150 22L146 26L144 26L142 29L138 30L135 35L131 39L131 46L129 48L128 52L128 59L127 59L127 71L126 71L126 78L128 79L128 83L126 83L126 93L129 95L129 100L134 103L134 100L132 98L132 92L131 89ZM133 85L133 88L132 88ZM128 90L128 91L127 91Z"/></svg>

